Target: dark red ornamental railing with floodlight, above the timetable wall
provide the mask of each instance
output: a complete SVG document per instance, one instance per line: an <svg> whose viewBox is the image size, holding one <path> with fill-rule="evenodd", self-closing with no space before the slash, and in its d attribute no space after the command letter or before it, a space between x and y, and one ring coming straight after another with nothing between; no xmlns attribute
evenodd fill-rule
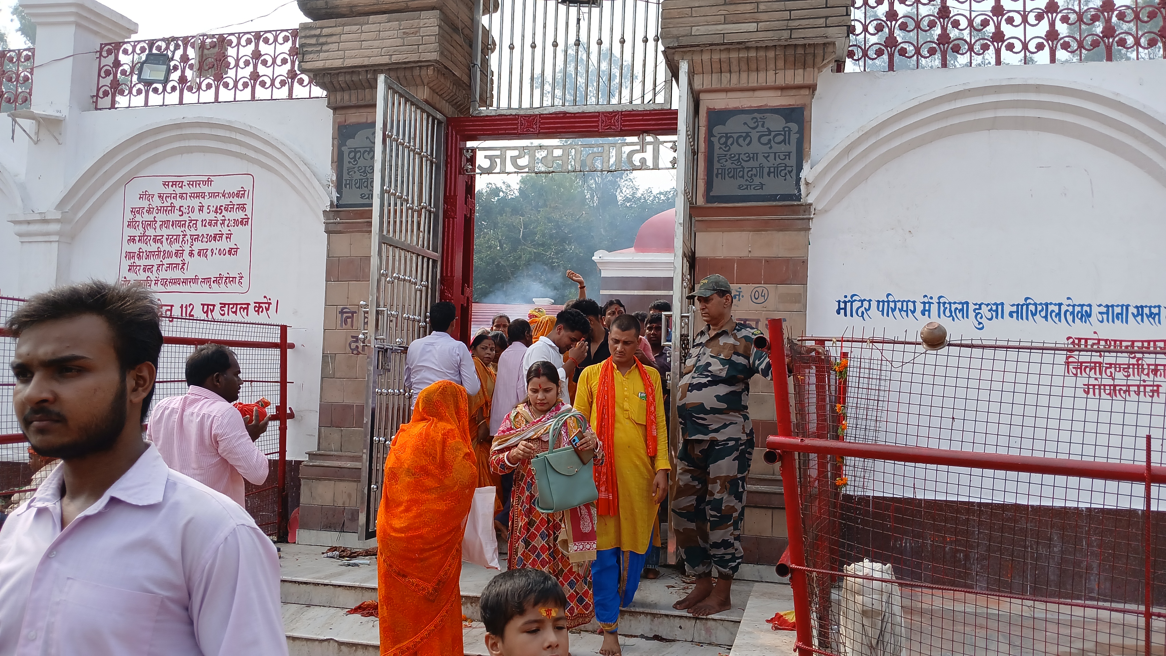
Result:
<svg viewBox="0 0 1166 656"><path fill-rule="evenodd" d="M98 110L323 98L324 90L300 72L297 29L196 34L103 43L98 50ZM170 56L166 84L138 82L150 52Z"/></svg>

